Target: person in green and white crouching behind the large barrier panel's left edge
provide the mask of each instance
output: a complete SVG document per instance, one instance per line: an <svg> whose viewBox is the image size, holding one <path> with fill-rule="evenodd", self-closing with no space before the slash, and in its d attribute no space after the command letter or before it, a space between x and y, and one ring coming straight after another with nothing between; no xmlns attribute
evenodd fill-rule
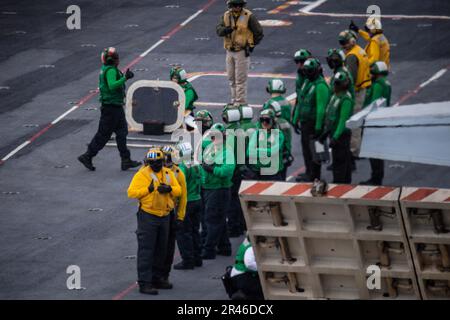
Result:
<svg viewBox="0 0 450 320"><path fill-rule="evenodd" d="M263 300L258 266L248 236L238 248L233 267L227 268L223 282L231 300Z"/></svg>

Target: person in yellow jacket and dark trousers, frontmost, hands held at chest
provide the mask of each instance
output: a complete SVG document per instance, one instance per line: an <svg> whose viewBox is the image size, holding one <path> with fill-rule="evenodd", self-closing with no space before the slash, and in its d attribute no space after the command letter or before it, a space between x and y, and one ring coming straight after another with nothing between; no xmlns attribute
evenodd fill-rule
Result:
<svg viewBox="0 0 450 320"><path fill-rule="evenodd" d="M163 167L161 150L150 149L128 187L128 197L139 200L137 213L137 271L139 291L158 294L169 237L169 216L181 187L173 172ZM156 270L154 269L156 266Z"/></svg>

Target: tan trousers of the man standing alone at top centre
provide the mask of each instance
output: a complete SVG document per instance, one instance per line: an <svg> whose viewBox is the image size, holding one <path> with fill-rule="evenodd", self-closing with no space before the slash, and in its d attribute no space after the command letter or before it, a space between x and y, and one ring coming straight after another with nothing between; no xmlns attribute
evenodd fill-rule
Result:
<svg viewBox="0 0 450 320"><path fill-rule="evenodd" d="M247 77L250 57L245 50L232 52L227 50L227 74L231 88L231 103L247 103Z"/></svg>

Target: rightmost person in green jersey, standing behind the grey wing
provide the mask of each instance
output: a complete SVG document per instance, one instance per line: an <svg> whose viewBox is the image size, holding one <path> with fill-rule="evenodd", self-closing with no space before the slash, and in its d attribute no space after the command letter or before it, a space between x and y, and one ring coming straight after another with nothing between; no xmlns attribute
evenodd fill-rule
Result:
<svg viewBox="0 0 450 320"><path fill-rule="evenodd" d="M370 66L372 76L372 86L367 90L363 107L377 99L385 98L386 106L391 105L391 83L387 79L389 74L388 67L383 61L376 61ZM381 159L369 159L372 170L371 177L367 181L361 182L365 185L381 185L384 178L384 161Z"/></svg>

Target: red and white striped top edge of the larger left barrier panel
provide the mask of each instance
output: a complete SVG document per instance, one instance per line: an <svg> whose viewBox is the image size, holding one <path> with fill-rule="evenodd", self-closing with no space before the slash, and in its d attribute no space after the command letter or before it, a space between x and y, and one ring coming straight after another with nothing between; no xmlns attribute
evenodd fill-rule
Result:
<svg viewBox="0 0 450 320"><path fill-rule="evenodd" d="M243 181L242 195L312 197L311 183ZM362 200L398 200L399 188L330 184L325 197Z"/></svg>

